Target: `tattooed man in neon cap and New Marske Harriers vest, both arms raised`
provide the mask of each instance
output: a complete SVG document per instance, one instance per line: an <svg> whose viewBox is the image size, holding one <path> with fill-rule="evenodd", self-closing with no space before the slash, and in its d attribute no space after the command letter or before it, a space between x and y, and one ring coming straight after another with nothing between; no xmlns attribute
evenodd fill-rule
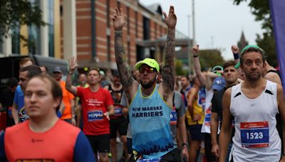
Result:
<svg viewBox="0 0 285 162"><path fill-rule="evenodd" d="M133 80L130 65L126 60L123 46L123 9L115 9L113 26L115 29L115 58L129 104L129 117L133 132L134 160L138 158L177 161L172 156L175 148L170 134L170 114L172 112L175 83L175 25L177 18L174 7L164 12L167 24L167 43L165 45L165 63L162 66L162 82L155 82L160 66L157 61L145 58L135 65L140 71L140 83Z"/></svg>

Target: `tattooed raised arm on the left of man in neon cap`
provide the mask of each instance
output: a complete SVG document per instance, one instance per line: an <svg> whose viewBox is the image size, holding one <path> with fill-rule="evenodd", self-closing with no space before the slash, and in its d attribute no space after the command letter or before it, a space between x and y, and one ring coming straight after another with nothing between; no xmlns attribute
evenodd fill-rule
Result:
<svg viewBox="0 0 285 162"><path fill-rule="evenodd" d="M123 44L123 26L125 25L125 14L123 9L115 9L116 13L113 14L113 26L115 29L115 60L117 63L120 80L122 82L125 95L128 102L131 101L136 90L138 90L138 82L133 80L130 65L127 63L125 48Z"/></svg>

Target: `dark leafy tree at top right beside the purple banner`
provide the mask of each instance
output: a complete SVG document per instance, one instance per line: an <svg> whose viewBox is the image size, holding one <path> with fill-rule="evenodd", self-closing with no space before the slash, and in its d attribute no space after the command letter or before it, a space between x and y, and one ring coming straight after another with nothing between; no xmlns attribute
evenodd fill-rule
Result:
<svg viewBox="0 0 285 162"><path fill-rule="evenodd" d="M247 0L234 0L234 4L239 5L243 1ZM266 52L266 55L268 56L266 60L269 62L269 64L276 66L278 63L276 58L273 26L269 9L269 0L251 0L248 6L250 7L252 14L255 16L255 20L261 21L261 28L265 30L262 34L263 36L257 34L257 45L263 48Z"/></svg>

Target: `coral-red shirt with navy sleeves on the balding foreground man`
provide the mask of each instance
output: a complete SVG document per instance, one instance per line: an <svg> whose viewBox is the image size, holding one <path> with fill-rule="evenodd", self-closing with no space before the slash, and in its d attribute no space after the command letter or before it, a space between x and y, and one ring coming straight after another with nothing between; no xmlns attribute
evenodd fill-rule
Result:
<svg viewBox="0 0 285 162"><path fill-rule="evenodd" d="M95 161L88 139L76 126L58 120L48 131L36 133L28 122L0 134L0 161Z"/></svg>

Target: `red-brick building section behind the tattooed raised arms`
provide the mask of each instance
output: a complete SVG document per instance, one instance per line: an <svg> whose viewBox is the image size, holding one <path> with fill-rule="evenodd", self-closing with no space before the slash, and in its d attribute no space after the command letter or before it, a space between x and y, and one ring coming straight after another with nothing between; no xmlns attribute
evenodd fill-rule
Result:
<svg viewBox="0 0 285 162"><path fill-rule="evenodd" d="M115 7L122 8L127 14L123 41L128 63L134 65L142 58L155 58L152 48L143 48L137 42L155 41L167 33L160 5L145 7L133 0L81 0L76 1L76 44L79 65L116 68L114 30L110 19L110 15L115 13ZM95 13L92 14L92 11Z"/></svg>

